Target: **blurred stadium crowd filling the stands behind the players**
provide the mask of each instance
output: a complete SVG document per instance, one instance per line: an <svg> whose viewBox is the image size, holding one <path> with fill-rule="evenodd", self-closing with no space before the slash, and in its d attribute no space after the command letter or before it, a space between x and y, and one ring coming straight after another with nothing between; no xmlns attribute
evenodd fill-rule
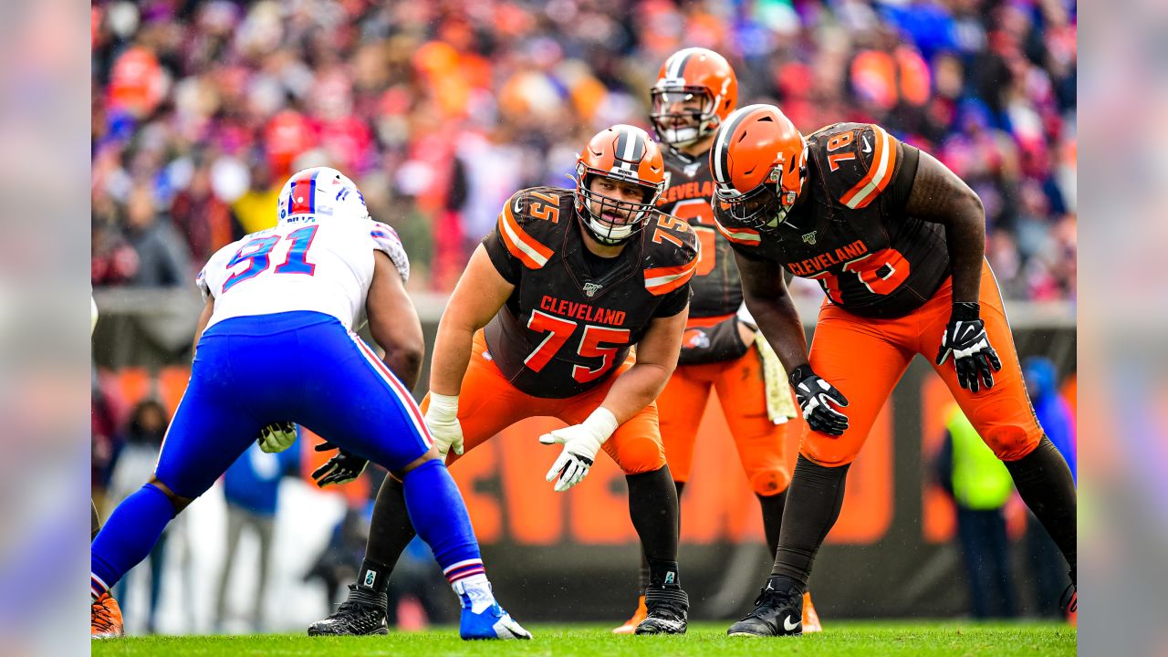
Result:
<svg viewBox="0 0 1168 657"><path fill-rule="evenodd" d="M95 286L189 285L328 164L397 228L411 285L450 290L515 189L648 127L661 62L703 46L739 105L934 153L985 203L1004 295L1076 297L1071 0L99 0L91 29Z"/></svg>

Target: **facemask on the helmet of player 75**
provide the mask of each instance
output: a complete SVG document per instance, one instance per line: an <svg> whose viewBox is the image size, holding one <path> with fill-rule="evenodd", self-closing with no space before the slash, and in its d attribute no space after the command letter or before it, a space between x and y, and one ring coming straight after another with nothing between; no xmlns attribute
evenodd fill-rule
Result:
<svg viewBox="0 0 1168 657"><path fill-rule="evenodd" d="M639 233L656 209L658 196L665 189L665 182L647 185L635 175L620 175L619 167L614 167L612 172L603 172L582 162L576 167L576 207L579 209L580 223L596 241L607 245L627 242ZM597 177L644 189L641 202L623 201L593 192L590 187Z"/></svg>

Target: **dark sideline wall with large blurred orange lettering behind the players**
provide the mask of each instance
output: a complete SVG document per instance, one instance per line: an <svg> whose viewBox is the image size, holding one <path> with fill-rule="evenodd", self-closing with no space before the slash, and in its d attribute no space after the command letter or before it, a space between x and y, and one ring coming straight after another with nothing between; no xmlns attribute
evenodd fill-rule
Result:
<svg viewBox="0 0 1168 657"><path fill-rule="evenodd" d="M95 338L95 360L103 385L128 403L157 394L173 409L189 374L197 296L181 305L169 292L166 298L173 307L160 307L151 305L162 298L153 297L155 292L137 299L128 290L110 292L117 299L100 292L103 324ZM433 344L443 300L425 298L418 304L427 345ZM814 319L813 307L801 310L806 319ZM1049 355L1064 379L1073 375L1072 307L1027 304L1007 310L1022 358ZM181 339L180 317L187 326ZM422 381L426 380L423 373ZM960 553L952 542L952 505L931 483L931 462L950 403L940 380L924 359L916 359L851 466L840 521L816 559L812 589L821 613L903 617L950 616L968 609ZM579 620L623 618L630 611L638 568L624 477L602 457L584 485L565 495L552 492L543 475L556 449L540 445L536 437L556 426L551 419L516 424L463 457L452 473L484 544L492 579L506 590L523 592L519 600L508 596L513 613L552 620L571 609ZM801 429L800 420L787 426L791 468ZM308 445L305 456L304 471L311 472L310 459L320 456ZM359 487L349 495L364 492ZM1033 593L1024 542L1018 539L1027 517L1020 505L1011 505L1008 517L1015 539L1015 587L1026 611ZM763 546L758 503L742 473L716 395L703 417L694 472L682 499L682 579L694 616L729 617L749 609L769 573L770 555Z"/></svg>

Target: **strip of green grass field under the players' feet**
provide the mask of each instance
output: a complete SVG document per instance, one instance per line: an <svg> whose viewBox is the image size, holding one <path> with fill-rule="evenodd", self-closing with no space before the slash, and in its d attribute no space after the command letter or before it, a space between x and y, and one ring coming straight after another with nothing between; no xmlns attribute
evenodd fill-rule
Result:
<svg viewBox="0 0 1168 657"><path fill-rule="evenodd" d="M726 623L694 623L686 636L613 636L598 625L529 625L534 641L464 642L453 629L381 637L310 638L293 635L127 637L93 642L93 657L187 655L321 657L387 655L584 655L676 657L718 655L1075 655L1075 628L1066 624L832 623L823 634L798 638L728 637Z"/></svg>

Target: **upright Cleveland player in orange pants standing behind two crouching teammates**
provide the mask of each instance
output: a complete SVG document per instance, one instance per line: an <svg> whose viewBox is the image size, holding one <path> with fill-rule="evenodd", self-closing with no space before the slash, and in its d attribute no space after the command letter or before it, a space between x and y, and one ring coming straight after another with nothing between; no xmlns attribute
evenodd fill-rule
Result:
<svg viewBox="0 0 1168 657"><path fill-rule="evenodd" d="M722 413L734 435L743 471L763 510L766 546L774 556L791 472L787 469L785 422L794 415L786 375L764 360L756 330L738 317L742 282L730 242L714 224L714 178L709 150L714 131L738 103L738 81L725 58L705 48L670 55L651 91L653 127L662 141L666 188L658 209L683 219L702 242L690 284L689 320L681 357L669 383L658 397L666 461L681 497L694 461L694 442L707 400L717 390ZM773 353L766 354L774 359ZM764 373L769 372L770 376ZM640 590L648 586L648 565L641 556ZM631 634L645 615L641 594L637 610L616 634ZM819 617L804 604L804 631L818 631Z"/></svg>

